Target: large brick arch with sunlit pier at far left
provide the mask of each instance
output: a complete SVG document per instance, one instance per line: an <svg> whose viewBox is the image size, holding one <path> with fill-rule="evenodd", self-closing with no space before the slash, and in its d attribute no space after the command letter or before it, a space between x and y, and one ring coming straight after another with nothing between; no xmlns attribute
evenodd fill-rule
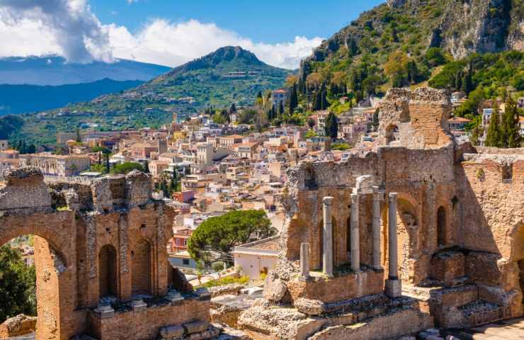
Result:
<svg viewBox="0 0 524 340"><path fill-rule="evenodd" d="M62 331L62 327L67 328L64 324L76 315L76 257L74 242L67 242L62 235L74 234L73 229L72 212L33 215L15 213L0 217L0 246L16 237L29 234L34 236L36 339L58 339L59 336L69 338L67 332L72 331Z"/></svg>

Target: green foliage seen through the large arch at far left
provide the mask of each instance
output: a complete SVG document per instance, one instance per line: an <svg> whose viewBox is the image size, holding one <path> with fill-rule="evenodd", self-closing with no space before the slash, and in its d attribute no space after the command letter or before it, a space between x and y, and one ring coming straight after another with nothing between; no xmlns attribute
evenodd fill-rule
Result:
<svg viewBox="0 0 524 340"><path fill-rule="evenodd" d="M0 323L21 313L36 315L35 266L6 244L0 247Z"/></svg>

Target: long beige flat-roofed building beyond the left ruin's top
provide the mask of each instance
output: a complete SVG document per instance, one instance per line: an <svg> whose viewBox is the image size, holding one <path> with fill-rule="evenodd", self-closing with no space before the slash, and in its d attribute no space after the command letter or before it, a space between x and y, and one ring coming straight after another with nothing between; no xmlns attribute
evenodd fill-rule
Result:
<svg viewBox="0 0 524 340"><path fill-rule="evenodd" d="M84 155L22 154L20 164L21 166L34 166L45 175L76 176L82 171L89 170L91 159Z"/></svg>

